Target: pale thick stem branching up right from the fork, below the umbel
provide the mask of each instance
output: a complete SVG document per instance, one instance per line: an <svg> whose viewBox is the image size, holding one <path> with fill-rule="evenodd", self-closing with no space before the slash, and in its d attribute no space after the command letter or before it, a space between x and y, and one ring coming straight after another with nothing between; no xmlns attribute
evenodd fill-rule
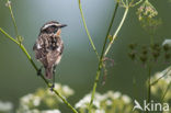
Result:
<svg viewBox="0 0 171 113"><path fill-rule="evenodd" d="M110 50L110 48L111 48L113 42L115 41L115 38L116 38L116 36L117 36L117 34L118 34L121 27L123 26L124 21L125 21L126 16L127 16L127 13L128 13L128 9L129 9L129 7L126 7L126 8L125 8L125 12L124 12L123 19L122 19L122 21L121 21L121 23L119 23L119 25L118 25L116 32L114 33L113 38L112 38L112 41L110 42L110 44L109 44L109 46L107 46L107 48L106 48L106 50L105 50L105 53L104 53L104 56L107 55L107 53L109 53L109 50Z"/></svg>

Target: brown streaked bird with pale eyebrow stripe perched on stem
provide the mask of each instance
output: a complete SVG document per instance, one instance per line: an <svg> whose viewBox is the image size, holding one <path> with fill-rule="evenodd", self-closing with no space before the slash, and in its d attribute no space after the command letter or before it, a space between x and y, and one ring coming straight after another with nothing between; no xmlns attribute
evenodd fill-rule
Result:
<svg viewBox="0 0 171 113"><path fill-rule="evenodd" d="M52 88L55 87L56 66L59 64L64 50L60 33L61 27L65 26L67 25L57 21L46 22L41 27L38 38L33 45L35 58L43 64L42 68L45 69L45 78L53 79ZM38 71L42 71L42 68Z"/></svg>

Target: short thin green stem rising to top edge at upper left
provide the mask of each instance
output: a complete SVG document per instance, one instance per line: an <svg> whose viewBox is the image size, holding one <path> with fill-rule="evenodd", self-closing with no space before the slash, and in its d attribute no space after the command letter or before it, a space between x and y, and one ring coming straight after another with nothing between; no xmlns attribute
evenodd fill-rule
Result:
<svg viewBox="0 0 171 113"><path fill-rule="evenodd" d="M7 3L8 3L8 8L9 8L9 10L10 10L10 14L11 14L12 22L13 22L13 25L14 25L15 36L16 36L16 38L18 38L18 37L19 37L19 32L18 32L16 22L15 22L15 19L14 19L13 12L12 12L12 7L11 7L11 4L10 4L10 1L9 1L9 0L7 0Z"/></svg>

